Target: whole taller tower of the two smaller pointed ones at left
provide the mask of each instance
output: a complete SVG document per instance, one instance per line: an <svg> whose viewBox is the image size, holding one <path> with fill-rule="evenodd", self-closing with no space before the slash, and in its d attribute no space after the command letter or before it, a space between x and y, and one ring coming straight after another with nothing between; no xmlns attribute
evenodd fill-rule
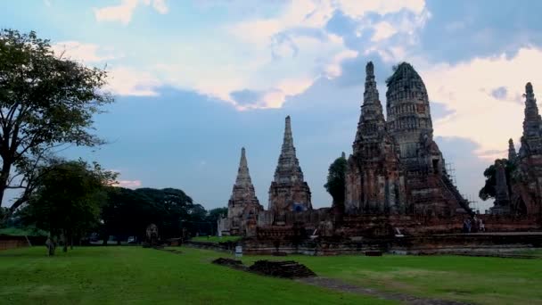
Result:
<svg viewBox="0 0 542 305"><path fill-rule="evenodd" d="M275 215L288 211L312 210L310 189L304 181L295 147L293 146L292 123L286 117L283 147L275 169L275 179L269 186L269 209Z"/></svg>

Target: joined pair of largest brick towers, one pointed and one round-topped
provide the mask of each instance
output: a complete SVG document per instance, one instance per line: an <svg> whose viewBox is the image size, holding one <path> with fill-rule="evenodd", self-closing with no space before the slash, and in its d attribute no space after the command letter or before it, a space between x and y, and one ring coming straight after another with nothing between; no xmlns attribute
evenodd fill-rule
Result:
<svg viewBox="0 0 542 305"><path fill-rule="evenodd" d="M449 179L433 141L431 108L422 78L410 64L398 65L387 80L388 120L384 120L372 62L366 74L362 114L349 158L349 213L429 217L472 213Z"/></svg>

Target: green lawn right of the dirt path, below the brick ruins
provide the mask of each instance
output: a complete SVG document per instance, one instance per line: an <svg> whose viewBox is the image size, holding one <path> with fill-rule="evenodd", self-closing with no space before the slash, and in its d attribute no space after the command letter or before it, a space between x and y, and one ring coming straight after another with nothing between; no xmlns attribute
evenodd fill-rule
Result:
<svg viewBox="0 0 542 305"><path fill-rule="evenodd" d="M245 257L243 262L262 259ZM537 260L396 255L286 259L300 261L319 276L382 291L478 304L542 304L542 256Z"/></svg>

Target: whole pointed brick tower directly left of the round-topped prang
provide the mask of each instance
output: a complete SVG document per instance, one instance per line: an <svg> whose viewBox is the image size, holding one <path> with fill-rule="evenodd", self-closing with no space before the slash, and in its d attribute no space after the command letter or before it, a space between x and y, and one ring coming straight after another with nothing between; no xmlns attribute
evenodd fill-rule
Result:
<svg viewBox="0 0 542 305"><path fill-rule="evenodd" d="M349 214L405 212L405 181L398 149L386 130L373 62L365 67L365 92L346 173L345 211Z"/></svg>

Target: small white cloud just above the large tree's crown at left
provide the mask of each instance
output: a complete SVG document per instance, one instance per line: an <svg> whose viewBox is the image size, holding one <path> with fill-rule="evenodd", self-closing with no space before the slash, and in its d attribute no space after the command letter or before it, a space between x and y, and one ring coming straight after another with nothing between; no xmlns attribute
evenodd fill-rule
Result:
<svg viewBox="0 0 542 305"><path fill-rule="evenodd" d="M78 41L63 41L52 45L54 54L80 62L103 62L122 57L111 49L100 45L84 44Z"/></svg>

